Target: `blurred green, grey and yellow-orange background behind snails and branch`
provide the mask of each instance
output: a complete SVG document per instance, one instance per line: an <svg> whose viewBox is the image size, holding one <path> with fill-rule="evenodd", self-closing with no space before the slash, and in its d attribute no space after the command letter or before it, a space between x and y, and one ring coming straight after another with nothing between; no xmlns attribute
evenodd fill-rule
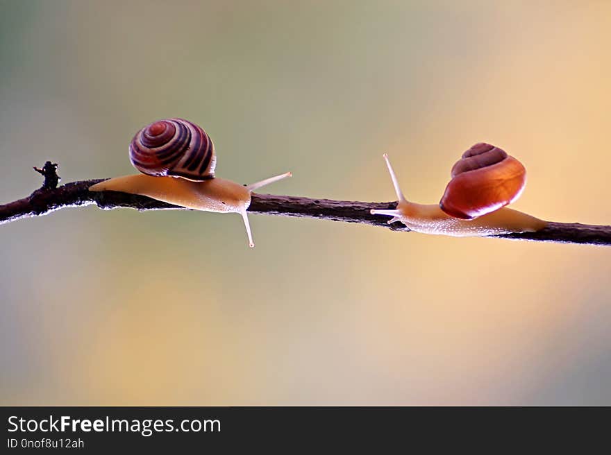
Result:
<svg viewBox="0 0 611 455"><path fill-rule="evenodd" d="M435 203L489 141L515 208L611 223L609 1L0 0L0 203L134 173L199 123L217 175ZM0 404L611 404L611 250L186 211L0 227Z"/></svg>

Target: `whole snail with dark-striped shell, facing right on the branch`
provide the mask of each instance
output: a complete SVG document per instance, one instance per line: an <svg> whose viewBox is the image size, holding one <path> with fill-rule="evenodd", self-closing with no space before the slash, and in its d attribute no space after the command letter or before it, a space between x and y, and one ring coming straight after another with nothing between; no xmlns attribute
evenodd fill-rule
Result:
<svg viewBox="0 0 611 455"><path fill-rule="evenodd" d="M122 191L204 212L238 213L251 247L255 244L246 215L251 193L292 175L287 172L249 185L216 178L212 139L184 119L163 119L142 128L129 145L129 158L141 174L111 178L89 191Z"/></svg>

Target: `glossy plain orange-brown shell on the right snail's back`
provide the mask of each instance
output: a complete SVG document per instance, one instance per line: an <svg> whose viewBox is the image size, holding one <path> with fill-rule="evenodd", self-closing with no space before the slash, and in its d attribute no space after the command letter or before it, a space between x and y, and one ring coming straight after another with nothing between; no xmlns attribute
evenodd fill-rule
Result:
<svg viewBox="0 0 611 455"><path fill-rule="evenodd" d="M462 154L451 175L440 207L462 219L477 218L512 203L526 184L526 169L518 160L483 142Z"/></svg>

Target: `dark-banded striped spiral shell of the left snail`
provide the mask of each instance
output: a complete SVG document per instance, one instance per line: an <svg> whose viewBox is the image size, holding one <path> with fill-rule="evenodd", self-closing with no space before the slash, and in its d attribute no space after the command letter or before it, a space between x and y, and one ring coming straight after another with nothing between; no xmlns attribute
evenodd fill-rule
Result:
<svg viewBox="0 0 611 455"><path fill-rule="evenodd" d="M129 159L142 173L195 181L214 178L217 161L212 139L184 119L163 119L142 128L129 144Z"/></svg>

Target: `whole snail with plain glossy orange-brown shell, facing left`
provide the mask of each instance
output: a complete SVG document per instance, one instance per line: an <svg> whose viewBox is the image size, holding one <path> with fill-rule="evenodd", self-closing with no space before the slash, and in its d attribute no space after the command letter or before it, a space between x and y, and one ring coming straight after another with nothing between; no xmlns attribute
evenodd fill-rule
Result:
<svg viewBox="0 0 611 455"><path fill-rule="evenodd" d="M462 154L451 171L451 180L439 204L408 202L388 155L386 166L399 203L394 210L371 210L392 216L388 224L401 221L412 231L453 237L474 237L536 232L546 222L506 208L519 198L526 184L526 169L501 148L478 143Z"/></svg>

